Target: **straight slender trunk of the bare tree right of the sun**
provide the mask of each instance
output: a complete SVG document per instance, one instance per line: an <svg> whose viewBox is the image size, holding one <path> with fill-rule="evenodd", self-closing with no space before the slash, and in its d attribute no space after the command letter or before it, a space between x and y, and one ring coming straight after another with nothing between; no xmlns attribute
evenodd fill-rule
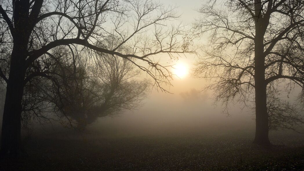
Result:
<svg viewBox="0 0 304 171"><path fill-rule="evenodd" d="M261 6L257 5L257 9ZM260 13L256 11L256 15ZM261 16L255 22L254 40L254 82L255 82L255 138L254 143L259 145L270 145L268 138L268 112L267 112L267 93L265 83L265 55L264 55L264 34L267 25Z"/></svg>

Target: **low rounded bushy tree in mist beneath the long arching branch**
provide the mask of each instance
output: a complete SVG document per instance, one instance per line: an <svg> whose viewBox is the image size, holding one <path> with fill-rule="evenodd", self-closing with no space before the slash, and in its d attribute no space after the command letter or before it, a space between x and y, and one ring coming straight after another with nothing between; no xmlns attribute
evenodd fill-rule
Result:
<svg viewBox="0 0 304 171"><path fill-rule="evenodd" d="M69 68L64 71L66 77L61 77L59 81L60 89L63 89L64 93L48 93L55 95L51 96L50 102L54 100L60 112L75 120L81 129L99 117L114 116L124 110L137 109L143 105L142 101L148 91L148 80L136 79L141 72L136 70L137 67L135 68L132 62L116 55L98 55L103 55L98 65L89 62L89 59L81 58L77 66L64 67L64 70ZM74 73L77 70L78 72ZM56 77L58 78L54 75L54 78Z"/></svg>

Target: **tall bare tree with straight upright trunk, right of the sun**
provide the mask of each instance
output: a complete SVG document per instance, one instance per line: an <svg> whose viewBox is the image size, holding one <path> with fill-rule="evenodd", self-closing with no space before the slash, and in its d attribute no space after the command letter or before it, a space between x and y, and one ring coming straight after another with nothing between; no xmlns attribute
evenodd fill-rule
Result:
<svg viewBox="0 0 304 171"><path fill-rule="evenodd" d="M195 75L212 79L216 100L255 102L254 143L269 145L268 130L303 123L294 106L278 99L279 85L303 86L304 3L297 0L209 1L196 28L210 32L207 58Z"/></svg>

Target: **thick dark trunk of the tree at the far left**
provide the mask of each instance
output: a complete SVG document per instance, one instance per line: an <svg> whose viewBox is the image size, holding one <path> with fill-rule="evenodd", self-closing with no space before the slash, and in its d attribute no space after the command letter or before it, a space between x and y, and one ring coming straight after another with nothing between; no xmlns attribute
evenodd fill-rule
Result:
<svg viewBox="0 0 304 171"><path fill-rule="evenodd" d="M33 30L33 25L31 24L33 23L33 19L29 19L29 1L13 1L13 6L14 32L12 36L14 44L6 87L0 149L0 154L10 156L19 155L21 152L22 96L26 72L26 57L28 55L27 48L29 37Z"/></svg>

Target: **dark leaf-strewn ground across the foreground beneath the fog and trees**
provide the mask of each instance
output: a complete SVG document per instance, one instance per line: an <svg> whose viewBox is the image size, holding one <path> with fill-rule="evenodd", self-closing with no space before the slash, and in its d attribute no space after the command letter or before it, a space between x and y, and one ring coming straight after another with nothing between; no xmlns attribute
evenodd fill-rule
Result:
<svg viewBox="0 0 304 171"><path fill-rule="evenodd" d="M33 138L27 156L1 159L0 170L304 170L303 134L253 134L69 140Z"/></svg>

